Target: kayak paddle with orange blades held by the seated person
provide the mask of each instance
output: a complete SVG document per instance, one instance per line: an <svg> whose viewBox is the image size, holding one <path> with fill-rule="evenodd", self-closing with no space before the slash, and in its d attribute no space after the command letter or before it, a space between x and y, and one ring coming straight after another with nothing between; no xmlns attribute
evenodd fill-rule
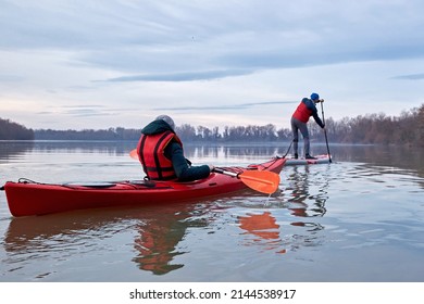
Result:
<svg viewBox="0 0 424 304"><path fill-rule="evenodd" d="M129 152L129 156L134 160L138 160L137 149L133 149ZM242 173L234 173L222 168L214 168L213 172L238 178L247 187L266 194L274 193L279 185L279 175L273 172L245 170Z"/></svg>

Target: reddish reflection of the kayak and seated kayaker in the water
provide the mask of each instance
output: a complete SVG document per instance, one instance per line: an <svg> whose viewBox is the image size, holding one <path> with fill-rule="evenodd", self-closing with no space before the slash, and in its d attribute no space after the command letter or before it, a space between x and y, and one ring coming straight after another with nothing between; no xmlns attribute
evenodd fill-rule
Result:
<svg viewBox="0 0 424 304"><path fill-rule="evenodd" d="M214 220L216 214L211 207L210 202L202 202L12 218L2 242L10 255L3 262L13 273L21 268L14 265L28 258L33 262L52 255L73 258L75 248L78 251L74 254L92 254L99 250L93 243L114 238L122 231L133 231L135 256L132 261L141 270L165 275L184 266L173 264L175 256L185 254L178 243L188 228L204 228Z"/></svg>

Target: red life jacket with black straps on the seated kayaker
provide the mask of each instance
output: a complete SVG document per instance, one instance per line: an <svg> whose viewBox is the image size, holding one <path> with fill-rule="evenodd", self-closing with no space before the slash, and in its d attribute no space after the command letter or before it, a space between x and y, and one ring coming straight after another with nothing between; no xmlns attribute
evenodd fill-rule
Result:
<svg viewBox="0 0 424 304"><path fill-rule="evenodd" d="M172 131L141 135L137 144L137 154L149 179L169 180L176 178L172 162L165 156L165 148L172 140L176 140L183 145L180 139Z"/></svg>

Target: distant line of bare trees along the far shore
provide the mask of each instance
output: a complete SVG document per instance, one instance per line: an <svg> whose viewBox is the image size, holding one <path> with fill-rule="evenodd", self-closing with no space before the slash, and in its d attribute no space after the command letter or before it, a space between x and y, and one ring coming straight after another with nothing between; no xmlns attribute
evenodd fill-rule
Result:
<svg viewBox="0 0 424 304"><path fill-rule="evenodd" d="M10 128L9 138L12 139L13 129L17 131L20 126ZM400 116L391 117L383 113L366 114L353 118L342 118L334 121L332 117L325 121L328 140L340 143L383 143L383 144L414 144L424 145L424 104L419 109L412 109L401 113ZM27 130L21 126L21 129ZM15 137L14 139L37 140L138 140L141 129L109 128L104 130L52 130L38 129L27 130L28 138ZM188 142L253 142L253 141L290 141L291 130L289 128L276 129L272 124L264 126L226 126L221 131L219 127L210 129L208 127L185 124L176 127L176 132L183 141ZM311 119L310 137L312 140L322 141L322 129Z"/></svg>

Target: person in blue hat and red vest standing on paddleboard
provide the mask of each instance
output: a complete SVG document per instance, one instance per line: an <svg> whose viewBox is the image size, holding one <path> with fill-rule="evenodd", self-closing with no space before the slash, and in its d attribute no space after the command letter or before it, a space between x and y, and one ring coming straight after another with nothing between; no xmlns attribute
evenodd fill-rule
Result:
<svg viewBox="0 0 424 304"><path fill-rule="evenodd" d="M302 134L303 143L304 143L304 159L307 160L315 160L315 157L310 155L310 141L309 141L309 131L308 131L308 121L309 117L313 117L319 124L320 127L324 128L325 125L321 121L317 115L317 110L315 103L324 102L323 99L320 100L320 96L317 93L312 93L311 99L303 98L295 113L291 116L291 130L292 130L292 142L294 142L294 151L295 159L298 159L298 142L299 142L299 134Z"/></svg>

